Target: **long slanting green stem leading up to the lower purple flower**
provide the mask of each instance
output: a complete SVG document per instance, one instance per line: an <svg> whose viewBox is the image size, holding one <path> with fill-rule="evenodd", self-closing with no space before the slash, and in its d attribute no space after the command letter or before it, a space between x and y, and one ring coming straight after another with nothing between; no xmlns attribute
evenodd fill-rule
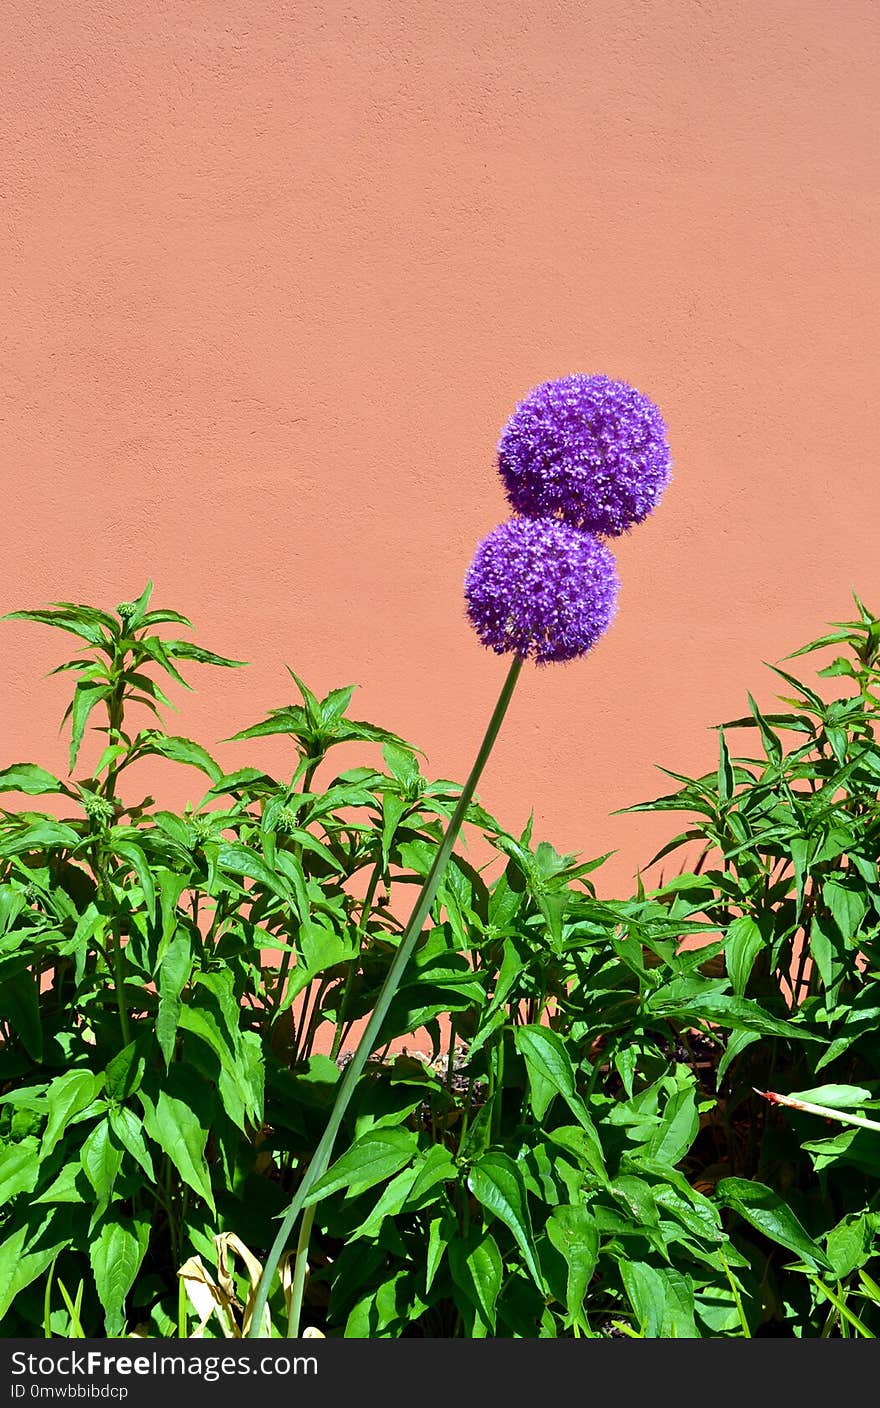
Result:
<svg viewBox="0 0 880 1408"><path fill-rule="evenodd" d="M476 786L489 760L489 755L494 748L498 731L501 728L504 715L507 714L507 708L510 705L514 689L517 686L521 669L522 669L522 660L520 656L515 656L507 673L507 679L504 680L504 684L501 687L498 703L496 704L494 712L489 721L489 728L486 729L486 736L480 745L480 750L476 756L474 765L470 769L467 781L462 788L462 796L458 800L458 805L452 814L452 819L449 821L444 839L441 841L439 849L434 857L434 865L431 866L431 870L428 872L425 881L418 893L415 908L413 910L410 922L407 924L403 939L400 941L400 946L397 949L397 953L394 955L391 967L389 969L386 980L382 984L382 991L376 998L376 1007L373 1008L373 1014L366 1025L366 1029L360 1041L358 1042L355 1055L345 1067L342 1080L339 1081L339 1090L329 1119L327 1122L327 1129L321 1136L321 1140L313 1155L311 1163L308 1164L303 1181L297 1188L296 1195L284 1214L279 1233L272 1245L272 1250L269 1252L269 1256L266 1259L263 1274L260 1277L260 1283L256 1290L256 1298L253 1301L253 1316L251 1321L251 1331L249 1331L251 1339L260 1338L263 1308L269 1298L269 1287L272 1284L272 1278L277 1270L277 1264L290 1239L293 1225L298 1218L300 1212L303 1211L308 1194L311 1193L318 1178L322 1177L322 1174L327 1171L329 1166L334 1143L339 1132L342 1119L345 1117L345 1111L348 1110L351 1098L355 1093L355 1087L363 1071L363 1067L366 1066L367 1059L373 1048L376 1046L377 1038L382 1031L382 1025L386 1019L389 1007L391 1005L391 1000L397 988L400 987L400 980L403 979L407 963L413 956L413 950L418 942L425 919L428 918L428 914L431 911L431 905L434 904L434 898L439 888L444 870L446 869L446 862L452 855L452 848L458 841L462 824L465 821L465 817L467 815L467 808L470 807L470 803L473 800ZM293 1315L293 1309L294 1307L291 1307L291 1326L296 1318Z"/></svg>

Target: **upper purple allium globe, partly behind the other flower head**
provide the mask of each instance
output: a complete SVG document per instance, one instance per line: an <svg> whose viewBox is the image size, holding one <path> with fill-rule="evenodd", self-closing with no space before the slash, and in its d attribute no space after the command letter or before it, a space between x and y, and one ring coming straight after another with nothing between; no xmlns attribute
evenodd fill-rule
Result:
<svg viewBox="0 0 880 1408"><path fill-rule="evenodd" d="M669 483L666 427L627 382L563 376L520 401L498 467L517 513L615 538L656 508Z"/></svg>

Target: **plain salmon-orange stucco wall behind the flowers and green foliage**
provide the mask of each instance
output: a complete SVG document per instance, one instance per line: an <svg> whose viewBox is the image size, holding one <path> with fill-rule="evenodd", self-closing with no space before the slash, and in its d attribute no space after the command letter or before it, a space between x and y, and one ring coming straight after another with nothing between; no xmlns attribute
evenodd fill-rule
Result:
<svg viewBox="0 0 880 1408"><path fill-rule="evenodd" d="M263 717L289 662L462 777L500 428L548 377L634 382L674 482L482 788L627 886L658 824L612 808L880 601L876 6L6 0L0 31L0 611L152 576L253 662L193 667L176 729ZM1 762L62 767L65 641L0 632Z"/></svg>

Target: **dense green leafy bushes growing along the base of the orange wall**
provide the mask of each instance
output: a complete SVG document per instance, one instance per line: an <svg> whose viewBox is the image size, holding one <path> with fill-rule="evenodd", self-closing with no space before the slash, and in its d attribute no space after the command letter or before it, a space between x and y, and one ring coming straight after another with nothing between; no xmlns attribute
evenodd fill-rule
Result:
<svg viewBox="0 0 880 1408"><path fill-rule="evenodd" d="M237 662L161 636L190 622L149 598L18 612L82 642L72 773L87 729L106 746L76 780L0 773L63 812L0 821L7 1336L221 1333L183 1297L211 1267L242 1332L460 793L296 676L235 735L290 738L291 776L225 773L165 732L158 679ZM756 1090L877 1102L879 642L859 604L805 648L848 652L846 698L786 673L791 712L752 704L715 772L645 804L689 814L663 855L690 869L650 893L598 898L600 860L470 807L275 1333L877 1332L877 1135ZM746 727L760 756L732 758ZM342 742L363 766L317 787ZM201 773L196 805L127 800L146 756Z"/></svg>

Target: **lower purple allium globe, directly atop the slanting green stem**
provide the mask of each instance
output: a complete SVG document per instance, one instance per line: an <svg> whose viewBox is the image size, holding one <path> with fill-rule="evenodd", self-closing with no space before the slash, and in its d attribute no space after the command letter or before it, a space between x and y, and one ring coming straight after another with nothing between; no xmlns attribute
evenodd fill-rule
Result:
<svg viewBox="0 0 880 1408"><path fill-rule="evenodd" d="M614 558L559 518L510 518L477 546L465 596L480 641L497 655L573 660L614 617Z"/></svg>

